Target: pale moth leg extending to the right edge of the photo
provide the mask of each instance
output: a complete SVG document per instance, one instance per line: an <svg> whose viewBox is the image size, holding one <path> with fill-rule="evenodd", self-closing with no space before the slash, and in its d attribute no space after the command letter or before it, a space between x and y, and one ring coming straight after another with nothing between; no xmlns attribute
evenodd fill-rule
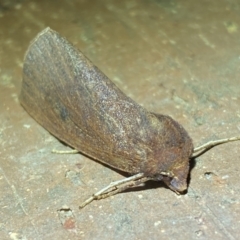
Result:
<svg viewBox="0 0 240 240"><path fill-rule="evenodd" d="M234 141L239 141L240 140L240 136L239 137L232 137L232 138L225 138L225 139L219 139L216 141L209 141L205 144L203 144L202 146L196 147L193 150L193 155L192 158L198 157L200 155L202 155L204 152L206 152L207 150L223 144L223 143L227 143L227 142L234 142Z"/></svg>

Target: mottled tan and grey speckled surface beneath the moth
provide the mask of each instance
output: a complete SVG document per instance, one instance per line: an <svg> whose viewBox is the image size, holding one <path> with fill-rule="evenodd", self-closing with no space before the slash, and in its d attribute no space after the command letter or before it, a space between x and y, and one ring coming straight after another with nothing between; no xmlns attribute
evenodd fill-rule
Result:
<svg viewBox="0 0 240 240"><path fill-rule="evenodd" d="M240 135L240 1L0 1L0 239L240 239L240 142L161 183L78 205L124 176L67 147L20 106L23 56L50 26L195 146Z"/></svg>

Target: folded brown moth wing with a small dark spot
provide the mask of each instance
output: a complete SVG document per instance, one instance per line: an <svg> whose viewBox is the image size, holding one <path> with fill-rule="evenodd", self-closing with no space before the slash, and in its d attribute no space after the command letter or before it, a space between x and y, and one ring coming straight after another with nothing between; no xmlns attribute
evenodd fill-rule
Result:
<svg viewBox="0 0 240 240"><path fill-rule="evenodd" d="M114 168L139 172L147 158L147 112L50 28L25 55L20 101L51 134Z"/></svg>

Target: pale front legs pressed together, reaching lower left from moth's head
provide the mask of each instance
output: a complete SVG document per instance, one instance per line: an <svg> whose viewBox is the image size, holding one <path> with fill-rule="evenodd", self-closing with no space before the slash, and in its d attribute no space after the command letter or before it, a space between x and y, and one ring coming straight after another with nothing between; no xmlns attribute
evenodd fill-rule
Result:
<svg viewBox="0 0 240 240"><path fill-rule="evenodd" d="M143 173L138 173L128 178L121 179L116 182L110 183L107 187L101 189L97 193L93 194L90 198L84 201L79 208L84 208L86 205L91 203L93 200L99 200L115 195L116 193L122 192L128 188L138 186L139 184L148 181L150 178L144 177Z"/></svg>

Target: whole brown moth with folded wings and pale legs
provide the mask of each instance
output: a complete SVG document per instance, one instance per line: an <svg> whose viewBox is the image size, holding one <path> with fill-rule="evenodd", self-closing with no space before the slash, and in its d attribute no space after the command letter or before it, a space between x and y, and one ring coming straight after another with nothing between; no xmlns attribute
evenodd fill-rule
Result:
<svg viewBox="0 0 240 240"><path fill-rule="evenodd" d="M148 180L163 181L177 193L187 189L193 143L184 128L127 97L50 28L27 50L20 102L58 139L132 175L102 189L81 207ZM195 152L235 140L239 138L208 143Z"/></svg>

